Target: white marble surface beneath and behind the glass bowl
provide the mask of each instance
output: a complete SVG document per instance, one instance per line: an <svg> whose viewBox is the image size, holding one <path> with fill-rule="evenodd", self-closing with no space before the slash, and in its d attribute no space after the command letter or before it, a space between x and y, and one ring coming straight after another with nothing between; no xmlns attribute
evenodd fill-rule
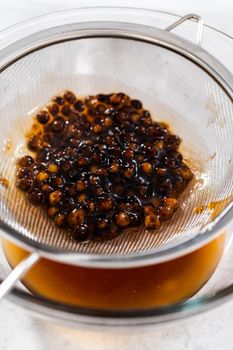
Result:
<svg viewBox="0 0 233 350"><path fill-rule="evenodd" d="M85 1L79 3L85 4ZM123 3L123 0L117 1L118 5ZM211 0L132 0L131 3L141 7L150 4L178 14L196 12L206 23L233 35L232 0L221 0L217 4ZM76 4L77 0L0 0L0 29L36 15L73 8ZM232 350L232 324L233 300L179 323L115 330L66 329L36 320L4 300L0 305L0 350Z"/></svg>

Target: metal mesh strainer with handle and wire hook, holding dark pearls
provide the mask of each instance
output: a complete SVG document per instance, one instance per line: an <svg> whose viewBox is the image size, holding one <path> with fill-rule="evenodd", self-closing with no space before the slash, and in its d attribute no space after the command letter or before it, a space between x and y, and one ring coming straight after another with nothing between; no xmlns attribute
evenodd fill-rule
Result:
<svg viewBox="0 0 233 350"><path fill-rule="evenodd" d="M198 22L197 45L169 32L187 19ZM0 296L41 256L91 267L143 266L197 249L228 223L233 78L201 48L201 28L196 15L165 30L130 23L73 23L2 50L0 176L9 179L10 186L0 187L0 224L8 238L32 254L2 283ZM195 178L180 198L180 209L159 232L132 228L105 243L77 243L16 189L15 163L28 153L25 132L32 115L66 89L83 96L124 91L182 138L182 152ZM197 215L200 206L203 210Z"/></svg>

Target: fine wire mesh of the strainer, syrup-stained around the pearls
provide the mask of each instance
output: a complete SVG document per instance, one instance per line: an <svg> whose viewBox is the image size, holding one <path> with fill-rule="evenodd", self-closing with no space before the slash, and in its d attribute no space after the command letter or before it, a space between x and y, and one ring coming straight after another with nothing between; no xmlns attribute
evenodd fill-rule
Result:
<svg viewBox="0 0 233 350"><path fill-rule="evenodd" d="M158 232L132 228L112 241L77 243L16 189L16 159L29 152L25 133L32 116L66 89L80 96L122 91L140 99L155 120L166 121L182 138L181 151L195 178L174 217ZM205 232L232 200L232 100L211 75L172 50L120 37L59 42L2 71L0 96L0 176L10 181L8 188L0 186L0 218L19 239L23 235L59 252L166 250ZM206 207L213 202L213 210Z"/></svg>

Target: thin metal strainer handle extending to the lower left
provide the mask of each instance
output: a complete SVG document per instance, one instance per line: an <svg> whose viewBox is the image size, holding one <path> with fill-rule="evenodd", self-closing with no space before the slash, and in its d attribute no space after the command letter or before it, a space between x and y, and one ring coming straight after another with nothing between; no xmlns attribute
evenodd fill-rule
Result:
<svg viewBox="0 0 233 350"><path fill-rule="evenodd" d="M9 293L20 277L22 277L37 261L39 261L39 259L40 255L38 253L32 253L14 268L0 285L0 300Z"/></svg>

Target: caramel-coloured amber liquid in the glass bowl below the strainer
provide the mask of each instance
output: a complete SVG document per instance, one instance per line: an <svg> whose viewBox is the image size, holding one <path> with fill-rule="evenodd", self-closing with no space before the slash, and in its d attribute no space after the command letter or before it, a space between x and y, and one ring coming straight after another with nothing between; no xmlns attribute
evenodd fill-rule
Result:
<svg viewBox="0 0 233 350"><path fill-rule="evenodd" d="M53 301L95 308L147 308L193 296L213 274L224 249L222 234L206 246L178 259L131 269L92 269L41 259L22 282ZM28 253L3 241L12 267Z"/></svg>

